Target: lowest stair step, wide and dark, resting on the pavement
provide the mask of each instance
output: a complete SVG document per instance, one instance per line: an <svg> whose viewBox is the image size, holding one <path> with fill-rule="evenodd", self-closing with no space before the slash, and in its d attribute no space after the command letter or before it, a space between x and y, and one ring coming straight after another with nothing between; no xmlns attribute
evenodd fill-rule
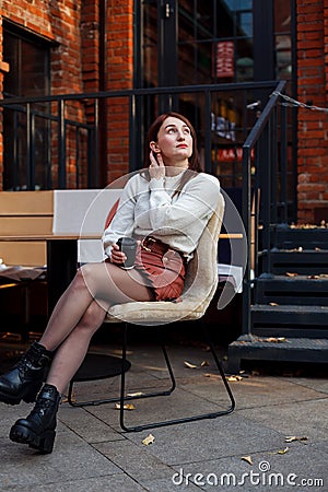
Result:
<svg viewBox="0 0 328 492"><path fill-rule="evenodd" d="M243 360L327 364L328 339L290 338L277 343L261 337L242 336L229 345L226 372L236 373Z"/></svg>

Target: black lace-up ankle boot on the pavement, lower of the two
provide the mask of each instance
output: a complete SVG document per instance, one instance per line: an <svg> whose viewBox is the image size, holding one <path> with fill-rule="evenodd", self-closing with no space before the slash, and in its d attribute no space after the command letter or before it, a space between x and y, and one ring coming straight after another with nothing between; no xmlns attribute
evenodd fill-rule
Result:
<svg viewBox="0 0 328 492"><path fill-rule="evenodd" d="M20 419L11 427L10 438L15 443L28 444L40 453L51 453L56 436L56 414L60 395L52 385L45 385L32 412L26 419Z"/></svg>

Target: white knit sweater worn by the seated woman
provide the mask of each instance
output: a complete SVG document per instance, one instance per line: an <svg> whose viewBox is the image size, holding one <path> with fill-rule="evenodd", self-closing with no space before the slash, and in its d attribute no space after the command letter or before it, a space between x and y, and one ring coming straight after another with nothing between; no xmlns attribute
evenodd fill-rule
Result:
<svg viewBox="0 0 328 492"><path fill-rule="evenodd" d="M121 236L152 235L183 253L189 260L201 233L216 208L219 180L198 173L174 195L183 173L147 180L140 173L125 186L112 224L104 231L103 245L110 258L112 244Z"/></svg>

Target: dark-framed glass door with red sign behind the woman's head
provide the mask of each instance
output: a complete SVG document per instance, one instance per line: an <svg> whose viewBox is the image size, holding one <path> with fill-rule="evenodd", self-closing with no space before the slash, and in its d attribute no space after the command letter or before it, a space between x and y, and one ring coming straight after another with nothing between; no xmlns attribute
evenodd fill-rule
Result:
<svg viewBox="0 0 328 492"><path fill-rule="evenodd" d="M292 81L294 0L143 0L140 8L138 86L230 84ZM139 69L140 67L140 69ZM222 186L242 183L242 145L268 98L268 92L221 92L212 101L211 172ZM185 93L174 102L203 134L203 96ZM171 101L172 102L172 101ZM142 105L144 128L167 101ZM293 145L291 121L289 147ZM290 153L291 203L295 194L295 156ZM207 166L209 168L209 166ZM294 177L293 177L294 176Z"/></svg>

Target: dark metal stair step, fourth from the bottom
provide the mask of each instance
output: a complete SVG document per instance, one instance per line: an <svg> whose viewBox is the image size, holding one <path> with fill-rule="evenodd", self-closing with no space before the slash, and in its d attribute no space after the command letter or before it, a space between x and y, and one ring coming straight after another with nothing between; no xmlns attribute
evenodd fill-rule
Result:
<svg viewBox="0 0 328 492"><path fill-rule="evenodd" d="M314 251L304 249L272 250L270 254L271 271L274 274L294 272L300 274L328 274L328 250ZM262 269L267 270L268 257L262 258Z"/></svg>

